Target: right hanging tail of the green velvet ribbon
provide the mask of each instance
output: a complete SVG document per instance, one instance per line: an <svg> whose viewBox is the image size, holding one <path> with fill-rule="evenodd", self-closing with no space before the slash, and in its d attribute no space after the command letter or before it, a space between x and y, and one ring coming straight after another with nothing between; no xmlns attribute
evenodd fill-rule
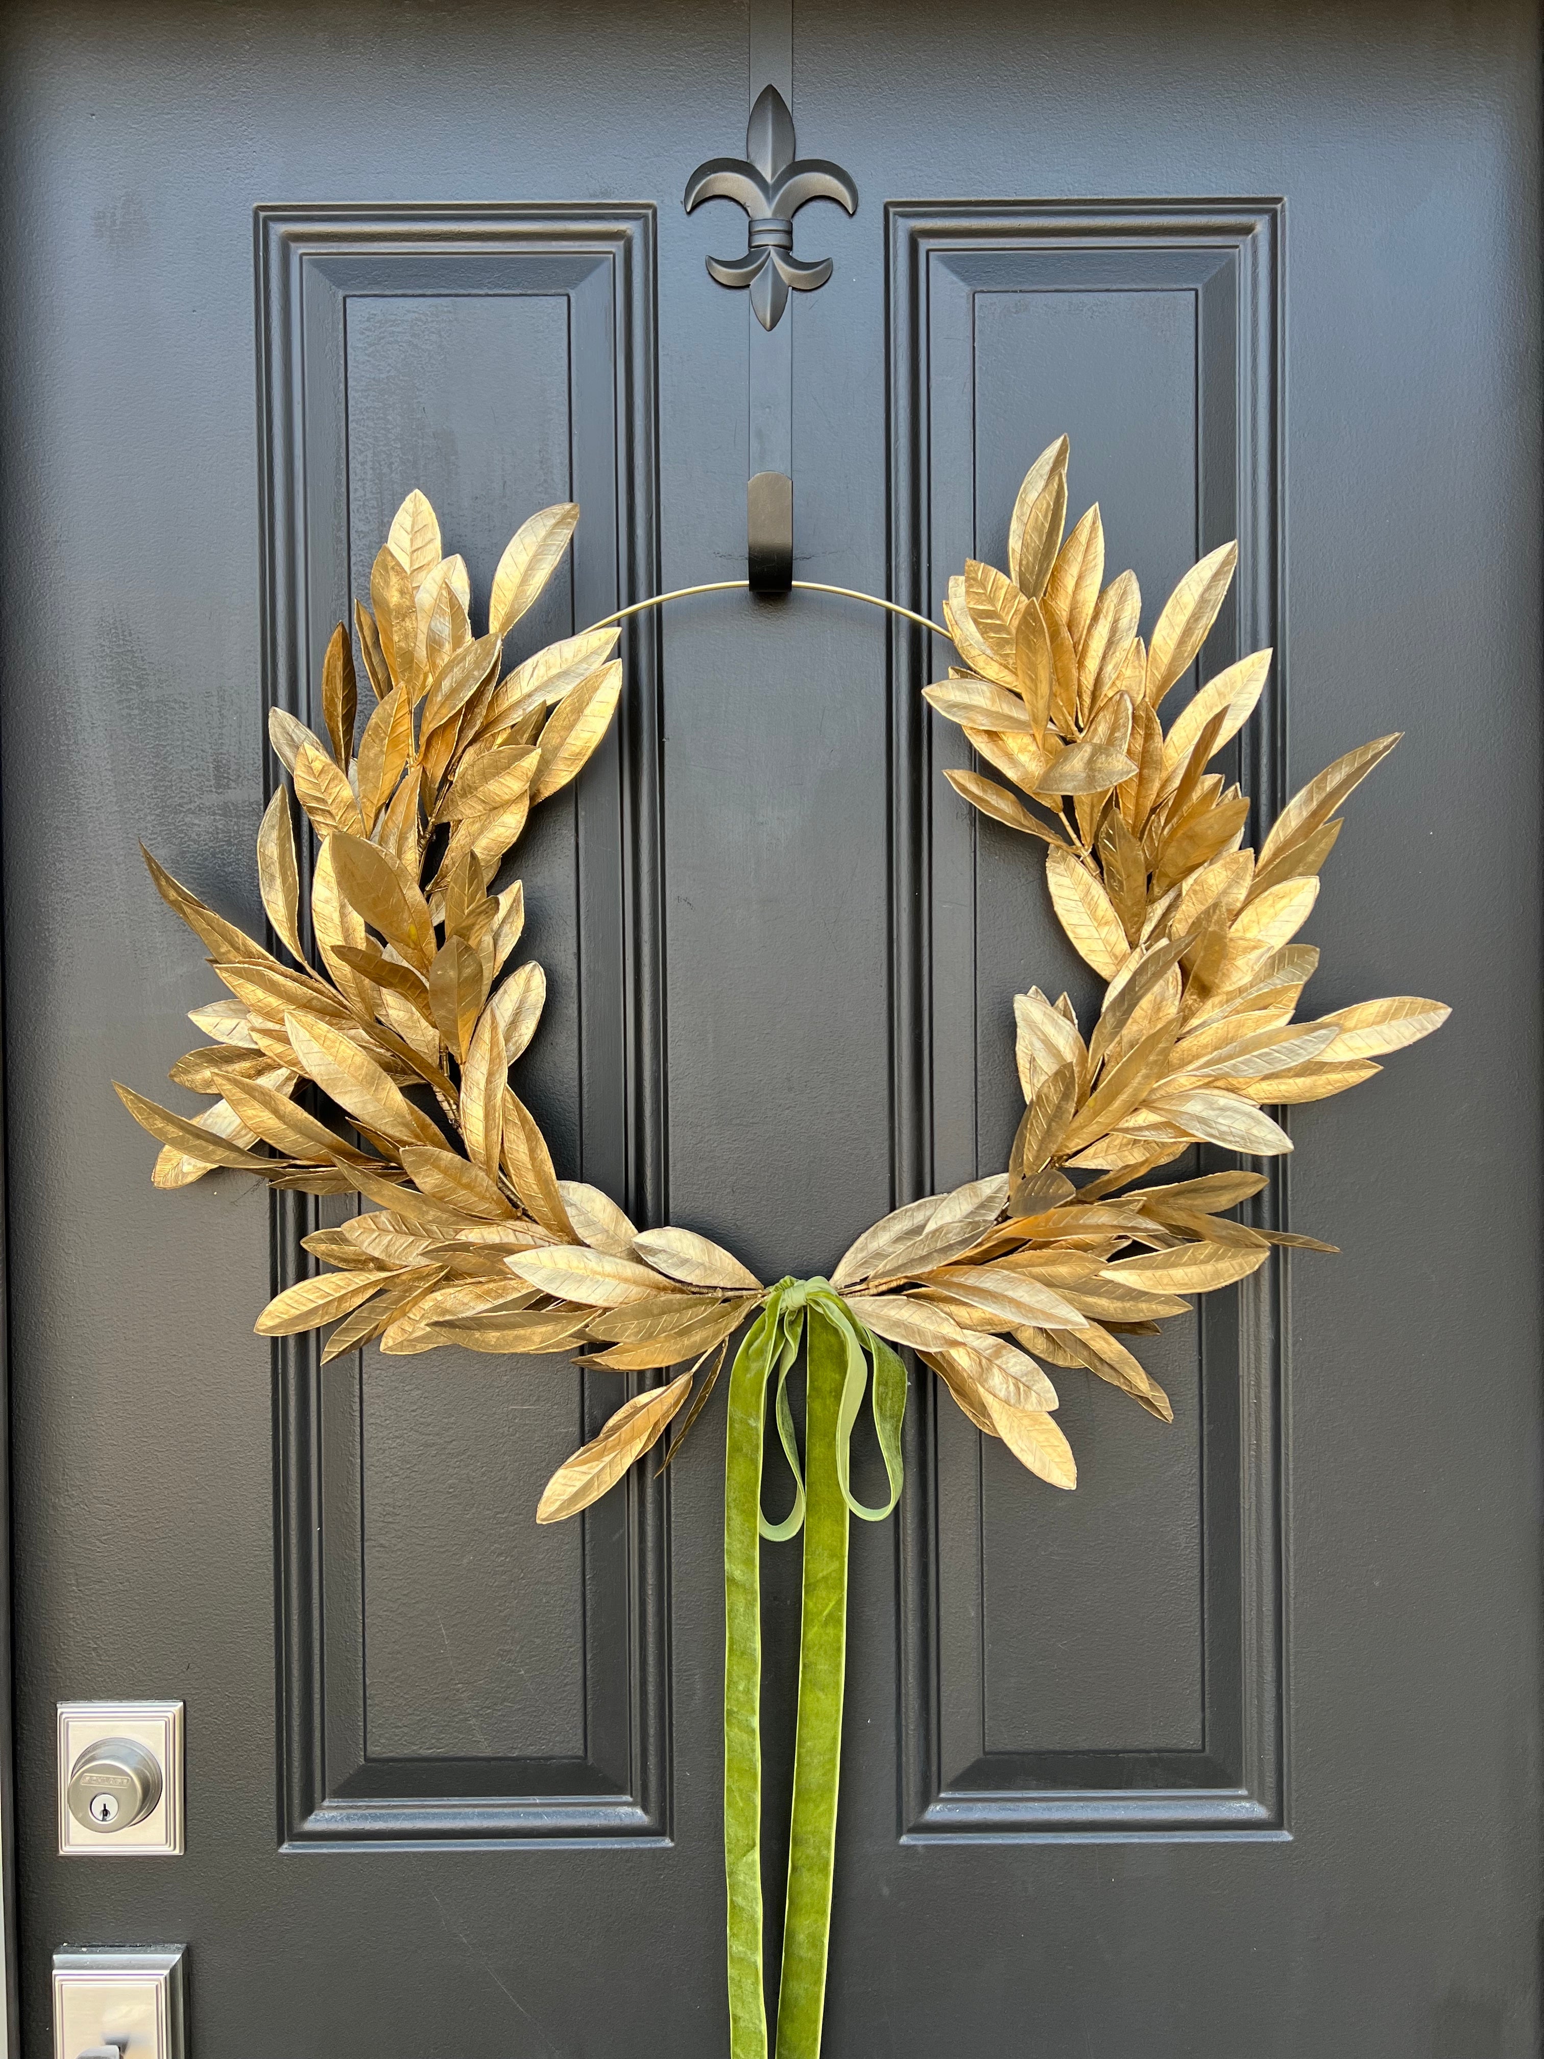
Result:
<svg viewBox="0 0 1544 2059"><path fill-rule="evenodd" d="M844 1328L838 1328L819 1303L811 1303L805 1324L807 1501L799 1728L778 1987L778 2059L817 2059L826 2008L846 1682L848 1503L838 1472L838 1425L848 1384Z"/></svg>

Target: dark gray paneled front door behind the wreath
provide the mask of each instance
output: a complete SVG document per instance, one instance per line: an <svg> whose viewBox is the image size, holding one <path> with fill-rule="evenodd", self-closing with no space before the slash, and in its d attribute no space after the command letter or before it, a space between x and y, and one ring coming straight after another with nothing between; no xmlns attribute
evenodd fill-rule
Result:
<svg viewBox="0 0 1544 2059"><path fill-rule="evenodd" d="M410 486L480 583L583 502L533 636L741 574L747 307L702 257L743 222L679 198L739 148L745 12L39 0L4 37L27 2049L60 1942L187 1940L196 2055L712 2059L718 1410L669 1491L537 1532L597 1406L566 1363L272 1359L296 1219L150 1192L109 1077L156 1091L212 990L136 838L259 920L264 696ZM842 2059L1538 2051L1538 56L1521 0L797 10L801 148L861 191L801 218L801 577L937 612L1058 430L1149 597L1239 535L1213 651L1278 651L1262 809L1408 731L1315 1001L1455 1005L1295 1112L1287 1217L1342 1256L1161 1347L1173 1429L1068 1375L1058 1497L916 1384L902 1517L854 1538ZM1009 999L1073 966L939 778L910 634L718 595L624 655L525 865L523 1091L560 1172L819 1270L1003 1163ZM768 1552L768 1736L795 1590ZM84 1697L185 1701L183 1857L56 1857Z"/></svg>

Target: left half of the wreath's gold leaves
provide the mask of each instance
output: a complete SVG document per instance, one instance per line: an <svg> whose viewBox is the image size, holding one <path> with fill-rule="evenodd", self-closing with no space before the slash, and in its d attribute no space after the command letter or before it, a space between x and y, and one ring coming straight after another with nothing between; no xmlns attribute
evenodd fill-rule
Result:
<svg viewBox="0 0 1544 2059"><path fill-rule="evenodd" d="M576 521L576 507L550 507L517 531L476 636L465 562L443 554L422 492L401 502L371 570L371 607L354 612L358 659L344 624L327 644L325 733L282 710L270 719L288 787L264 815L257 877L284 957L146 852L224 988L191 1011L212 1042L171 1071L214 1104L181 1116L117 1091L163 1145L156 1186L231 1167L373 1205L313 1231L307 1250L331 1270L276 1295L257 1320L264 1336L334 1322L323 1361L371 1340L387 1353L591 1345L591 1365L646 1371L702 1361L762 1293L706 1237L638 1235L597 1188L558 1180L511 1085L546 974L515 959L523 883L498 881L531 809L578 774L622 690L616 626L504 671L506 638ZM315 838L305 906L290 789ZM628 1400L554 1476L537 1520L605 1493L690 1386Z"/></svg>

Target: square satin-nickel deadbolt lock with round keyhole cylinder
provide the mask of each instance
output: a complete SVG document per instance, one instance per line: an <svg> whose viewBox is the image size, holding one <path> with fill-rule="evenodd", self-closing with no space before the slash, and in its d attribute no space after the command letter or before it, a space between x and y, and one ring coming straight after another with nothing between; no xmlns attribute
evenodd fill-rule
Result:
<svg viewBox="0 0 1544 2059"><path fill-rule="evenodd" d="M183 1849L183 1705L62 1701L64 1857L175 1855Z"/></svg>

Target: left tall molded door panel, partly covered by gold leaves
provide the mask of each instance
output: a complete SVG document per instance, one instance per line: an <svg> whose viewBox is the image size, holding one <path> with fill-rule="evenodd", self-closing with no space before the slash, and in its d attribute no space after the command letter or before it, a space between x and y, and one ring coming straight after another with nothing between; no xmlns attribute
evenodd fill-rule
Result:
<svg viewBox="0 0 1544 2059"><path fill-rule="evenodd" d="M430 476L391 486L399 498L410 484L424 484L457 542L467 517L465 507L453 504L457 484L476 469L473 445L494 441L492 432L476 434L478 402L494 406L506 381L523 379L541 402L543 420L556 424L548 437L554 467L548 498L578 500L585 519L570 593L539 603L554 620L539 622L537 640L568 634L659 589L653 208L259 208L255 239L268 706L319 727L313 708L321 653L331 626L350 614L352 595L369 595L369 556L360 552L364 525L379 523L379 511L360 513L356 504L375 484L369 451L360 449L369 428L360 422L395 420L393 408L403 439L418 434L408 424L420 414L459 410L459 447L443 422L438 443L422 430ZM508 336L500 323L511 323ZM531 348L523 354L527 334ZM486 389L451 395L451 373L426 346L428 336L449 340L451 354L461 348L465 364L484 367L478 377L488 381ZM500 502L500 519L508 513L502 542L535 502L504 511L502 474L496 480L500 490L484 498ZM369 550L377 542L373 529ZM486 593L490 570L492 562L473 562L473 589L482 581ZM480 605L476 591L473 605ZM562 968L568 1001L556 1011L550 1003L548 1050L535 1062L562 1073L554 1100L578 1112L568 1139L574 1170L653 1221L663 1178L663 1007L651 618L628 626L622 655L628 694L618 729L587 768L583 797L556 817L558 828L543 824L539 859L531 861L548 867L570 898L576 929L576 957ZM531 859L529 848L525 857ZM552 1046L564 1034L570 1048L554 1058ZM307 1196L276 1196L276 1289L309 1270L301 1237L317 1227L321 1207L327 1205ZM412 1581L414 1563L412 1555L381 1557L391 1507L385 1513L373 1507L371 1452L379 1445L366 1431L375 1423L377 1435L401 1441L403 1417L412 1427L414 1375L422 1380L424 1363L371 1355L366 1369L356 1355L323 1371L317 1340L309 1336L282 1338L274 1351L282 1841L315 1847L667 1839L665 1482L632 1476L624 1495L607 1497L583 1517L583 1532L574 1526L574 1538L560 1546L566 1557L541 1561L539 1587L552 1610L554 1581L560 1585L562 1620L548 1614L537 1657L546 1655L581 1684L564 1719L546 1715L539 1695L527 1707L531 1748L508 1736L488 1742L476 1711L480 1742L457 1748L451 1732L459 1680L443 1616L443 1672L432 1664L436 1651L412 1643L412 1622L391 1666L383 1662L366 1594L373 1610L381 1610L381 1579ZM455 1408L457 1392L471 1392L463 1408L484 1408L492 1380L529 1380L533 1388L541 1382L535 1390L541 1396L552 1369L539 1359L476 1365L471 1384L459 1367L459 1386L441 1384L430 1406L443 1415ZM593 1435L616 1400L616 1380L585 1382L572 1423L564 1415L564 1439ZM537 1398L537 1406L568 1410L566 1400ZM469 1427L467 1419L463 1429ZM455 1456L441 1464L455 1466ZM416 1487L418 1447L410 1472ZM531 1501L537 1487L533 1480ZM445 1522L455 1513L445 1509ZM424 1522L422 1507L414 1520ZM420 1532L410 1542L414 1536ZM504 1561L484 1571L504 1583L500 1598L515 1643L521 1592L533 1594L535 1583L523 1585ZM414 1608L438 1614L430 1606L434 1596L428 1590L426 1596L410 1598L410 1618ZM399 1627L403 1610L389 1596L381 1620ZM443 1721L434 1695L447 1711ZM422 1728L418 1742L414 1725ZM550 1734L541 1736L543 1730ZM373 1732L385 1738L375 1750Z"/></svg>

